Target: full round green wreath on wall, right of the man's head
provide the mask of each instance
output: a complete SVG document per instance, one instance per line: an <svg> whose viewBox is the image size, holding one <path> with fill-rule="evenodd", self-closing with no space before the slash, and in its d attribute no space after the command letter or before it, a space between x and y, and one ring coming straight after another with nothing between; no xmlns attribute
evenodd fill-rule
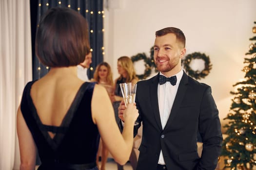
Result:
<svg viewBox="0 0 256 170"><path fill-rule="evenodd" d="M193 70L192 68L190 68L189 65L194 59L202 59L204 61L204 69L202 71ZM195 79L204 78L210 73L210 70L212 69L212 64L209 56L206 56L204 53L200 52L188 54L185 59L181 61L181 63L183 64L183 68L186 70L187 74L191 77L194 77Z"/></svg>

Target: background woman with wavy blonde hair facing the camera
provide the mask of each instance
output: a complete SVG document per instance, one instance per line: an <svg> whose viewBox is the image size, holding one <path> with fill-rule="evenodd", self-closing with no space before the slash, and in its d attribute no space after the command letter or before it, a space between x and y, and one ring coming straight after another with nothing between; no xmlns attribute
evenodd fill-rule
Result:
<svg viewBox="0 0 256 170"><path fill-rule="evenodd" d="M102 62L99 63L96 67L96 70L94 72L92 82L98 82L98 85L102 85L106 88L108 95L110 97L111 102L114 100L114 83L113 83L113 74L111 71L111 68L108 63ZM100 154L101 152L101 154ZM97 153L97 159L96 163L99 170L105 170L106 162L108 159L108 150L106 147L106 144L103 140L100 139L98 153ZM98 160L99 156L101 155L101 166L99 168Z"/></svg>

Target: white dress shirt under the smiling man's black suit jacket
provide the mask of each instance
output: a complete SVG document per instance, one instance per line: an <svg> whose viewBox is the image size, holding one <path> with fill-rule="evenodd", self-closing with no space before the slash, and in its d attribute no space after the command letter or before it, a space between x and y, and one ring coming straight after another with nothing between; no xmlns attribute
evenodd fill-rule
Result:
<svg viewBox="0 0 256 170"><path fill-rule="evenodd" d="M160 72L160 75L163 75L163 74ZM166 122L170 116L170 113L173 107L173 102L175 100L177 90L178 90L178 85L180 83L182 75L183 75L183 70L181 69L176 74L176 77L177 77L176 85L171 85L170 82L166 82L163 85L159 85L158 83L158 106L159 106L162 129L164 129ZM158 164L165 165L162 150L159 155Z"/></svg>

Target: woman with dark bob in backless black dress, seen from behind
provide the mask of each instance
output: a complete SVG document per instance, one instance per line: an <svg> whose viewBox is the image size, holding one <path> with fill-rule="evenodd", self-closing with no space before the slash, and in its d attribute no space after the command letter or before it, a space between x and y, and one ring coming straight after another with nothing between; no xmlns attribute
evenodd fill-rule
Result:
<svg viewBox="0 0 256 170"><path fill-rule="evenodd" d="M99 136L115 161L129 159L138 110L128 105L121 134L106 89L77 77L77 65L89 54L88 39L85 18L72 9L51 8L41 18L36 53L51 69L23 90L17 113L20 170L35 170L37 150L38 170L98 170Z"/></svg>

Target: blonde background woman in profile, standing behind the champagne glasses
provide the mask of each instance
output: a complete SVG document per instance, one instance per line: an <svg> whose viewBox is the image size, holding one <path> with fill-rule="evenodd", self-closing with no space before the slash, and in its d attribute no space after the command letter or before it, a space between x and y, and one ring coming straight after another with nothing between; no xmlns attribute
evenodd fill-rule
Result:
<svg viewBox="0 0 256 170"><path fill-rule="evenodd" d="M118 73L119 73L119 77L115 80L115 84L114 84L115 101L113 102L117 123L119 123L119 120L120 120L118 118L118 106L120 102L123 100L119 84L129 83L129 82L132 82L132 84L136 84L138 82L138 77L136 76L133 62L131 58L128 56L122 56L118 58ZM137 156L134 150L132 150L129 160L133 167L133 170L136 170ZM118 164L118 170L123 170L123 166Z"/></svg>

